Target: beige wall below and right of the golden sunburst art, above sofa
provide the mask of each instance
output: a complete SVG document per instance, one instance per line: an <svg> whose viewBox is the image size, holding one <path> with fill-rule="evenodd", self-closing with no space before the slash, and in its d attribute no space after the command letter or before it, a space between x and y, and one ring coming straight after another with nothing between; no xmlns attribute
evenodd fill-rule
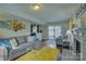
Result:
<svg viewBox="0 0 86 64"><path fill-rule="evenodd" d="M0 35L2 36L2 38L11 38L11 37L16 37L16 36L30 35L30 24L25 23L25 22L23 22L23 23L26 26L25 29L13 31L8 28L0 28Z"/></svg>

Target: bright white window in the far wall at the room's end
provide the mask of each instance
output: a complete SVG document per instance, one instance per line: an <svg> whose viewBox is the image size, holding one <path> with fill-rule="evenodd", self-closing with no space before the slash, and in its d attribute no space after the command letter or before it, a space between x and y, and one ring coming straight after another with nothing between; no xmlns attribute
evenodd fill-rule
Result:
<svg viewBox="0 0 86 64"><path fill-rule="evenodd" d="M61 35L61 26L49 26L49 39L57 38Z"/></svg>

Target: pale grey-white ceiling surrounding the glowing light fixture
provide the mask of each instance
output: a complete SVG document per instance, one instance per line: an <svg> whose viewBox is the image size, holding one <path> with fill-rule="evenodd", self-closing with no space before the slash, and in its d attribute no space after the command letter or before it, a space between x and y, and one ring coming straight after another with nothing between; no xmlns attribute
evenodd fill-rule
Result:
<svg viewBox="0 0 86 64"><path fill-rule="evenodd" d="M30 9L30 3L0 4L0 20L24 20L40 24L67 21L74 16L78 3L42 3L39 11Z"/></svg>

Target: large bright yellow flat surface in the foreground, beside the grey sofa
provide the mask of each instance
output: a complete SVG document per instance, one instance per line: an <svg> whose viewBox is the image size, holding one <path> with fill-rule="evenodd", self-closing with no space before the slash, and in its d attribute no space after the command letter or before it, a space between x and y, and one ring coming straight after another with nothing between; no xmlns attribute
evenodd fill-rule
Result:
<svg viewBox="0 0 86 64"><path fill-rule="evenodd" d="M59 49L44 47L39 51L33 50L27 52L26 54L20 56L16 61L56 61L59 53Z"/></svg>

